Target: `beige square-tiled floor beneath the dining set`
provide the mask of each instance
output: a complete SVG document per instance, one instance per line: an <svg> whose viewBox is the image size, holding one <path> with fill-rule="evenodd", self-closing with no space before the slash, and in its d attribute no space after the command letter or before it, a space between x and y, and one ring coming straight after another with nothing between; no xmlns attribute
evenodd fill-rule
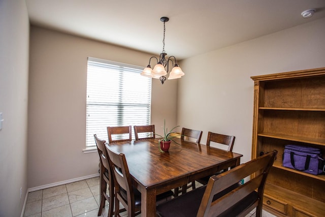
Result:
<svg viewBox="0 0 325 217"><path fill-rule="evenodd" d="M28 194L24 217L95 217L100 204L99 177L76 181L57 187L30 192ZM107 216L108 205L102 216ZM121 213L126 216L127 213ZM138 215L141 217L141 214ZM255 216L254 211L246 217ZM263 211L263 217L273 217Z"/></svg>

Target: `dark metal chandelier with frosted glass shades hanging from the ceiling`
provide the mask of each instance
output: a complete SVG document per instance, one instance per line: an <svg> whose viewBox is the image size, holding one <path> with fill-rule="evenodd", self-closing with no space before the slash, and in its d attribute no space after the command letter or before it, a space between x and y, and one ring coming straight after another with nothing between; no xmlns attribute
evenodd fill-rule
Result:
<svg viewBox="0 0 325 217"><path fill-rule="evenodd" d="M160 18L160 21L164 22L164 39L163 39L163 51L159 55L159 60L157 57L151 56L149 59L148 66L141 73L141 75L143 76L159 79L161 81L161 84L164 84L164 82L166 81L165 75L167 75L169 71L169 63L171 63L172 66L174 67L172 71L169 73L168 80L180 78L184 75L181 68L177 65L175 56L170 56L168 59L166 59L165 57L167 55L167 53L165 52L165 31L166 31L165 23L168 22L168 20L169 20L168 17ZM152 58L155 58L157 60L157 64L153 69L151 69L150 66L150 61ZM175 64L173 59L175 61Z"/></svg>

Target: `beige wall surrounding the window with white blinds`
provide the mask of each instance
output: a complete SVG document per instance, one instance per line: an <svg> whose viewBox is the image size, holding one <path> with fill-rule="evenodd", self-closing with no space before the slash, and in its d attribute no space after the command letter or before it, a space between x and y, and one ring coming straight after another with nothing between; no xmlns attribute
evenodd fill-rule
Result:
<svg viewBox="0 0 325 217"><path fill-rule="evenodd" d="M28 188L98 174L98 153L82 152L88 56L146 67L151 55L31 26ZM153 79L151 122L157 133L165 117L175 126L176 90L177 81L161 85Z"/></svg>

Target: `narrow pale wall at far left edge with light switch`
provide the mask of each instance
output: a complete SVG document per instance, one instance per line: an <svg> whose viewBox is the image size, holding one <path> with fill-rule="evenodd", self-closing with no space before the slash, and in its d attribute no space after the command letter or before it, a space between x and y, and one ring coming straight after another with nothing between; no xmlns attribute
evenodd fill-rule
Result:
<svg viewBox="0 0 325 217"><path fill-rule="evenodd" d="M28 38L25 1L0 0L0 216L20 216L27 192Z"/></svg>

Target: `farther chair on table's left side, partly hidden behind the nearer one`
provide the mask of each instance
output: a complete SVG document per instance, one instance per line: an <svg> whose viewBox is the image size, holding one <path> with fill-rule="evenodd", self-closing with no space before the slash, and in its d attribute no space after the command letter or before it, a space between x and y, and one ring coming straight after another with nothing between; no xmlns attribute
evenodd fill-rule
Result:
<svg viewBox="0 0 325 217"><path fill-rule="evenodd" d="M111 169L107 159L107 152L105 148L106 141L101 140L96 134L93 135L97 146L98 154L100 156L100 209L98 215L102 214L103 208L105 207L105 201L107 200L108 205L108 216L113 216L114 207L114 184ZM107 194L107 185L109 185L109 194Z"/></svg>

